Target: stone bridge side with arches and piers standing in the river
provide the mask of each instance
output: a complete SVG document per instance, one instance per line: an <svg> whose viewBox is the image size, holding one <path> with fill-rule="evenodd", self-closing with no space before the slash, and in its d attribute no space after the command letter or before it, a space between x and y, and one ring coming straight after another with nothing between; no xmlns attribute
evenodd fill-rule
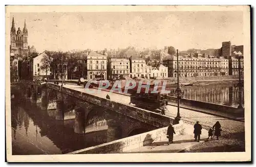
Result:
<svg viewBox="0 0 256 167"><path fill-rule="evenodd" d="M74 113L76 133L107 130L108 141L132 136L174 124L174 118L94 96L53 83L18 84L41 110L55 110L56 120L68 120Z"/></svg>

